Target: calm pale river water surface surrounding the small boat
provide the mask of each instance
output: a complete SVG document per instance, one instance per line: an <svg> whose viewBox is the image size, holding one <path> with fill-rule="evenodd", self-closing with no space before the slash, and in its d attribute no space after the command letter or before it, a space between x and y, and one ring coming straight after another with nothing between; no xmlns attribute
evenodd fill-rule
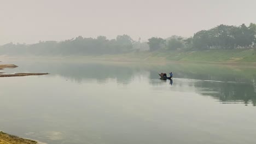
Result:
<svg viewBox="0 0 256 144"><path fill-rule="evenodd" d="M193 64L10 61L0 130L45 143L256 143L256 71ZM158 73L173 71L173 81Z"/></svg>

